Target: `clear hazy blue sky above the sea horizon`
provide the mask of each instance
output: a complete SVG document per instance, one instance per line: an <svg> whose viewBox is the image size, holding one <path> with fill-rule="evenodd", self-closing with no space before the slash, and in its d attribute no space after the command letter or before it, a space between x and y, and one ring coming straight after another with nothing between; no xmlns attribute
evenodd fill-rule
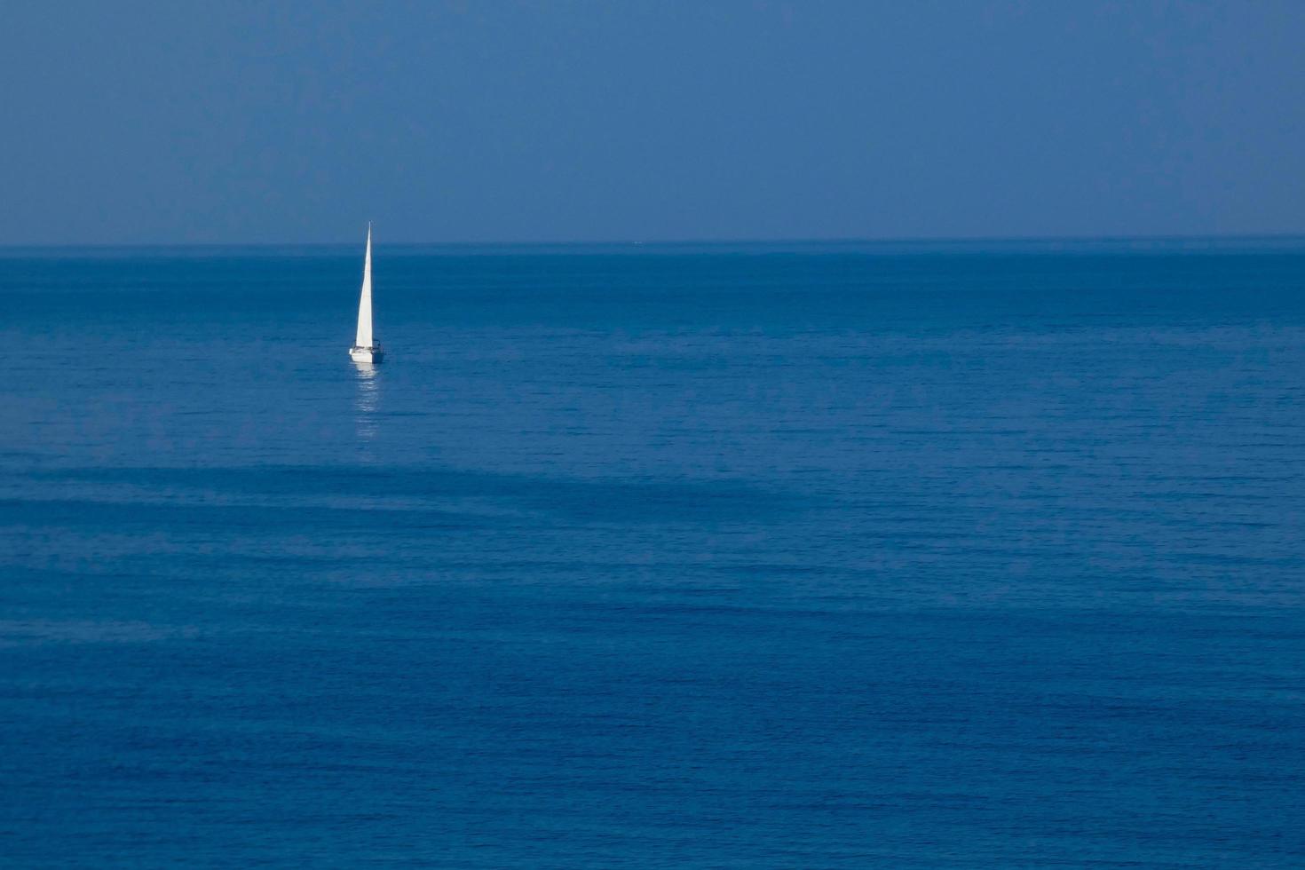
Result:
<svg viewBox="0 0 1305 870"><path fill-rule="evenodd" d="M1300 0L0 22L0 245L1305 232Z"/></svg>

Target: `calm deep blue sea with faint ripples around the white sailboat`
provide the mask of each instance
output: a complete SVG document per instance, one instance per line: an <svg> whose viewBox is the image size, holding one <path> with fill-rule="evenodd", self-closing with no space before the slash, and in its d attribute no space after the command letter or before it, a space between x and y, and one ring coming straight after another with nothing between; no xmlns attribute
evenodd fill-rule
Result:
<svg viewBox="0 0 1305 870"><path fill-rule="evenodd" d="M0 252L5 867L1305 866L1305 241Z"/></svg>

